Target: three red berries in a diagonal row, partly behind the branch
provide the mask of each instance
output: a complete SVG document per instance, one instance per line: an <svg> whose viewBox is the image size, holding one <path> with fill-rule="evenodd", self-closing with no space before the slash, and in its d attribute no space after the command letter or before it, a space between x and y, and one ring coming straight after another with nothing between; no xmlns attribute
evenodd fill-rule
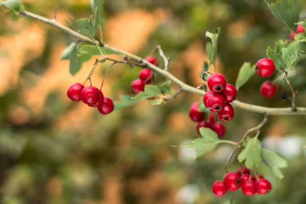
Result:
<svg viewBox="0 0 306 204"><path fill-rule="evenodd" d="M158 65L158 61L153 56L147 56L145 58L151 64ZM138 94L140 91L144 91L146 84L152 84L154 80L154 72L148 68L144 68L139 72L139 79L134 80L131 84L132 90L135 94Z"/></svg>

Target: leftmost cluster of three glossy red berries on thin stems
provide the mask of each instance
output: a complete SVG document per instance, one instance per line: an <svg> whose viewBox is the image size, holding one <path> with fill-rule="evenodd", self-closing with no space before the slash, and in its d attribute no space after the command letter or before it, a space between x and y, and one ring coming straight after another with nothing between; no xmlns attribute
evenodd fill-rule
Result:
<svg viewBox="0 0 306 204"><path fill-rule="evenodd" d="M112 99L104 96L102 91L94 86L87 86L80 83L74 83L67 91L67 96L75 102L83 101L90 107L97 107L98 111L107 115L114 111L114 103Z"/></svg>

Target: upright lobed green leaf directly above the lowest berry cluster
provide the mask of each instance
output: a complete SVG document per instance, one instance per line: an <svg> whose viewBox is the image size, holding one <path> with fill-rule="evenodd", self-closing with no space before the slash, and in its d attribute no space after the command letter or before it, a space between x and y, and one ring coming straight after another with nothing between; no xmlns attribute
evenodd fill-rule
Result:
<svg viewBox="0 0 306 204"><path fill-rule="evenodd" d="M247 141L245 148L238 155L239 162L245 161L247 168L258 167L261 162L261 144L257 137Z"/></svg>

